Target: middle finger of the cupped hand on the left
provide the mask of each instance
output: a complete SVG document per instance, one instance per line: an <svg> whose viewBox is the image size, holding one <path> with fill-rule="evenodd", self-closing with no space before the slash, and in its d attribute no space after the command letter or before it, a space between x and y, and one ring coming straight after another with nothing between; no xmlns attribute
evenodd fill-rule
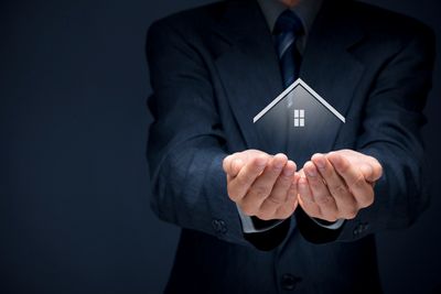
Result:
<svg viewBox="0 0 441 294"><path fill-rule="evenodd" d="M288 157L284 154L275 155L263 172L256 178L241 200L243 208L248 211L256 211L272 190L281 171L287 164ZM276 200L275 200L276 202ZM273 203L276 205L276 203Z"/></svg>

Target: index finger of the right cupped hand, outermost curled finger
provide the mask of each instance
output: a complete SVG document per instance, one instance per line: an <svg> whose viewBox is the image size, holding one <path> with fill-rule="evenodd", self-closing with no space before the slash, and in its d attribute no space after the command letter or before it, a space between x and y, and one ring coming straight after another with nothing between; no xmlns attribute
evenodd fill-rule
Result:
<svg viewBox="0 0 441 294"><path fill-rule="evenodd" d="M327 155L335 171L343 177L347 188L359 207L367 207L374 202L373 187L366 182L362 172L344 156L331 152Z"/></svg>

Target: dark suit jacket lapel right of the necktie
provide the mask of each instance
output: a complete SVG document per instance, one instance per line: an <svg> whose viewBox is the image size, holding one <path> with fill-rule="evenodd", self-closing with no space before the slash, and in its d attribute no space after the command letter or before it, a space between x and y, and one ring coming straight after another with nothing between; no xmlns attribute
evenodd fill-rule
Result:
<svg viewBox="0 0 441 294"><path fill-rule="evenodd" d="M361 80L364 66L351 53L364 32L347 13L351 1L324 1L311 30L300 77L344 117ZM332 150L342 123L326 128L318 146Z"/></svg>

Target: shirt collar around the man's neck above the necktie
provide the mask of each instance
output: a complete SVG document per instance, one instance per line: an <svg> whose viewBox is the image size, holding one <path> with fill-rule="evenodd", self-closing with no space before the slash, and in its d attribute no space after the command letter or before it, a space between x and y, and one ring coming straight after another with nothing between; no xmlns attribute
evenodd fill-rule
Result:
<svg viewBox="0 0 441 294"><path fill-rule="evenodd" d="M275 29L279 15L284 10L291 9L301 20L305 35L308 35L311 30L312 23L322 6L322 1L323 0L300 0L294 7L288 8L280 2L280 0L257 0L271 32Z"/></svg>

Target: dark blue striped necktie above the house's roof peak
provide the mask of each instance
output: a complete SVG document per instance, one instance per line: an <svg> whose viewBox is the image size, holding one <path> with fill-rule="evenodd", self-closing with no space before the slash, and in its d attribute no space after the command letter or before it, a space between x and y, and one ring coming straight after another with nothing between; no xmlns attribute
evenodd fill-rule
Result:
<svg viewBox="0 0 441 294"><path fill-rule="evenodd" d="M284 10L277 19L273 34L283 85L287 88L299 77L301 56L295 43L303 34L302 22L294 12Z"/></svg>

